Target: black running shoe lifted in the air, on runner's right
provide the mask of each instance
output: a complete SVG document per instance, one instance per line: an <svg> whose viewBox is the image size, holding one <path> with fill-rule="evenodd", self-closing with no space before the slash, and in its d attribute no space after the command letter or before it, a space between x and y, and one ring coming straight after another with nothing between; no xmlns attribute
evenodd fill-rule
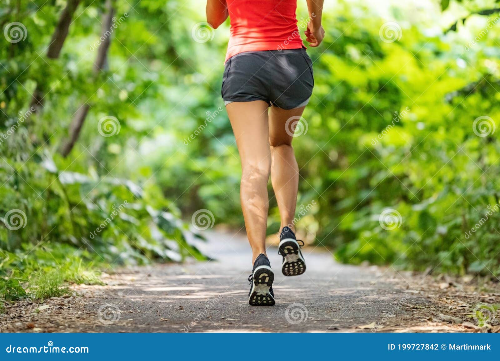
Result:
<svg viewBox="0 0 500 361"><path fill-rule="evenodd" d="M301 242L300 245L298 242ZM288 227L283 227L279 235L278 253L283 256L281 272L285 276L298 276L305 272L305 261L300 252L304 243L295 238L295 234Z"/></svg>

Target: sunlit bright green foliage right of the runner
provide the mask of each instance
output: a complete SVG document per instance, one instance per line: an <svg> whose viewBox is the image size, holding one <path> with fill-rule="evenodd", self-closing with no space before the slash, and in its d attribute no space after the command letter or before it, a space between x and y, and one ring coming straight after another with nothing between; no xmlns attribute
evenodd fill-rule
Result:
<svg viewBox="0 0 500 361"><path fill-rule="evenodd" d="M429 37L416 18L385 43L373 31L383 21L366 14L352 22L340 12L304 114L316 144L299 138L296 146L298 163L308 162L302 176L320 197L316 239L343 262L498 275L500 143L474 125L500 119L498 30L470 46L463 32L490 20ZM328 171L316 172L319 165ZM387 209L400 215L390 230L380 224Z"/></svg>

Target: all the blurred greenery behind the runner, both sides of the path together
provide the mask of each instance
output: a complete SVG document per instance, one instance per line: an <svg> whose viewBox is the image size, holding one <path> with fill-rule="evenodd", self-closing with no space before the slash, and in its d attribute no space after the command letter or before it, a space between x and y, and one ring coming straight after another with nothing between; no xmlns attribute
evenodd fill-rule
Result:
<svg viewBox="0 0 500 361"><path fill-rule="evenodd" d="M499 12L325 5L294 140L307 243L344 263L500 273ZM302 35L306 17L299 0ZM229 24L203 21L200 0L1 1L0 300L98 283L108 265L203 259L198 210L242 227L220 98Z"/></svg>

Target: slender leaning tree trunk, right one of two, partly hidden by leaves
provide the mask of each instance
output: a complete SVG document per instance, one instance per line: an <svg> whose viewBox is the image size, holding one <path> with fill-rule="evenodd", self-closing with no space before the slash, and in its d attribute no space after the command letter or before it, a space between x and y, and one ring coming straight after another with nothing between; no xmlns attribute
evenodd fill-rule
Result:
<svg viewBox="0 0 500 361"><path fill-rule="evenodd" d="M102 17L102 34L101 39L102 42L97 49L97 57L94 62L94 74L95 76L106 67L107 61L107 52L109 49L109 45L111 43L111 27L113 26L113 15L114 15L114 7L112 0L106 0L106 13ZM88 103L83 104L76 111L71 124L68 129L68 139L65 141L63 146L60 149L61 155L65 158L71 152L74 147L74 144L78 140L80 136L81 127L85 122L85 118L88 114L88 110L90 110L90 105Z"/></svg>

